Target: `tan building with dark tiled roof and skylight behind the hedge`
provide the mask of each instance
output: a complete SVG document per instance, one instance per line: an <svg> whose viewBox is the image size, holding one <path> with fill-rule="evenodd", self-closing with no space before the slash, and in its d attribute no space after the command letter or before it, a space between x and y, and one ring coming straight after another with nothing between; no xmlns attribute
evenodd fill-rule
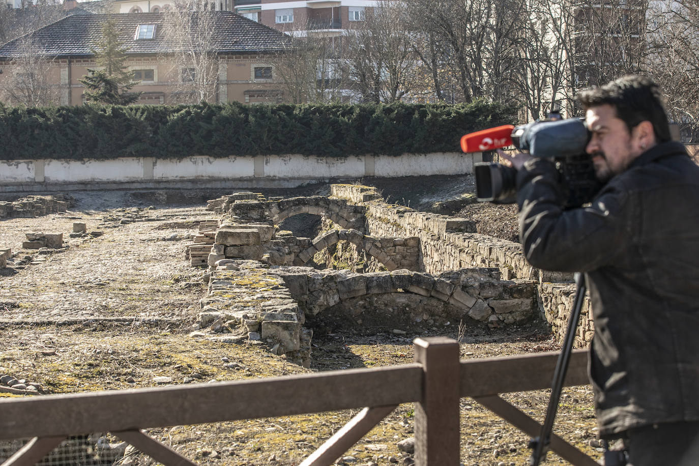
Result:
<svg viewBox="0 0 699 466"><path fill-rule="evenodd" d="M196 13L193 13L196 14ZM214 74L210 101L259 103L275 101L280 86L275 78L271 54L283 52L287 36L275 29L252 22L231 12L215 11L212 15L210 65ZM80 105L85 101L80 79L88 69L99 69L92 50L101 38L101 29L114 20L120 42L127 48L128 71L134 76L132 92L140 92L138 103L172 104L182 101L188 82L194 82L196 68L177 59L177 50L169 45L167 15L164 13L132 13L129 15L71 15L49 24L29 37L0 46L0 88L17 73L31 74L18 68L26 56L27 40L32 50L41 50L47 68L48 86L55 92L57 103ZM26 66L25 66L26 68ZM39 78L39 77L36 77Z"/></svg>

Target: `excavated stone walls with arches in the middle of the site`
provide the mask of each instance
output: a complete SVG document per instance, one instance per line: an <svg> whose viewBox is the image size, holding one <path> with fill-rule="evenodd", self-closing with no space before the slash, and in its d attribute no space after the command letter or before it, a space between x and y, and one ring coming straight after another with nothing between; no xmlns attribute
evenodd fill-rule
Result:
<svg viewBox="0 0 699 466"><path fill-rule="evenodd" d="M261 340L308 367L307 319L437 329L469 319L494 328L540 316L559 337L565 332L572 275L531 267L519 244L475 233L468 219L391 205L374 188L354 184L331 185L329 197L236 193L209 201L208 209L221 221L200 225L187 246L192 265L205 265L206 256L209 268L194 336ZM325 231L315 239L280 231L278 224L296 214L323 217ZM363 254L365 270L379 271L306 266L340 241ZM587 302L577 331L579 343L589 342Z"/></svg>

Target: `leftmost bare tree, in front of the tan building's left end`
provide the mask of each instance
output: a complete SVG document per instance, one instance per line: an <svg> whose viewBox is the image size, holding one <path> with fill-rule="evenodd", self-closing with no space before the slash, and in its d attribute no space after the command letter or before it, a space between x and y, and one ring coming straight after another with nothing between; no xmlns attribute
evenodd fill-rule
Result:
<svg viewBox="0 0 699 466"><path fill-rule="evenodd" d="M10 105L55 105L59 89L50 85L51 62L45 52L26 38L13 56L10 76L0 80L0 97Z"/></svg>

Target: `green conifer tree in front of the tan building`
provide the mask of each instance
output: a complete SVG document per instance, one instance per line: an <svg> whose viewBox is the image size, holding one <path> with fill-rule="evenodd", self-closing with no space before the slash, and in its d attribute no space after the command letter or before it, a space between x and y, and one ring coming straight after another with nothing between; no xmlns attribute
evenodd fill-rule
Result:
<svg viewBox="0 0 699 466"><path fill-rule="evenodd" d="M136 82L125 62L127 49L119 40L117 23L110 18L102 26L102 36L91 49L98 66L102 70L88 69L91 75L85 75L80 82L85 85L87 101L110 103L113 105L129 105L138 100L140 92L128 92Z"/></svg>

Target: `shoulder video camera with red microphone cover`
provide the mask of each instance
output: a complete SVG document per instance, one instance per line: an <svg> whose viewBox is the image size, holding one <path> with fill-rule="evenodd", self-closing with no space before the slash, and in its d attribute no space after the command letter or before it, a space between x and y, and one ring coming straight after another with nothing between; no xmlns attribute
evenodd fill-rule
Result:
<svg viewBox="0 0 699 466"><path fill-rule="evenodd" d="M522 126L498 126L466 134L463 152L483 152L514 145L535 157L551 159L559 171L561 185L568 191L565 207L589 203L602 187L595 177L592 159L585 147L590 139L582 119L550 118ZM510 131L509 135L507 132ZM496 204L517 201L517 169L499 163L475 163L476 198Z"/></svg>

